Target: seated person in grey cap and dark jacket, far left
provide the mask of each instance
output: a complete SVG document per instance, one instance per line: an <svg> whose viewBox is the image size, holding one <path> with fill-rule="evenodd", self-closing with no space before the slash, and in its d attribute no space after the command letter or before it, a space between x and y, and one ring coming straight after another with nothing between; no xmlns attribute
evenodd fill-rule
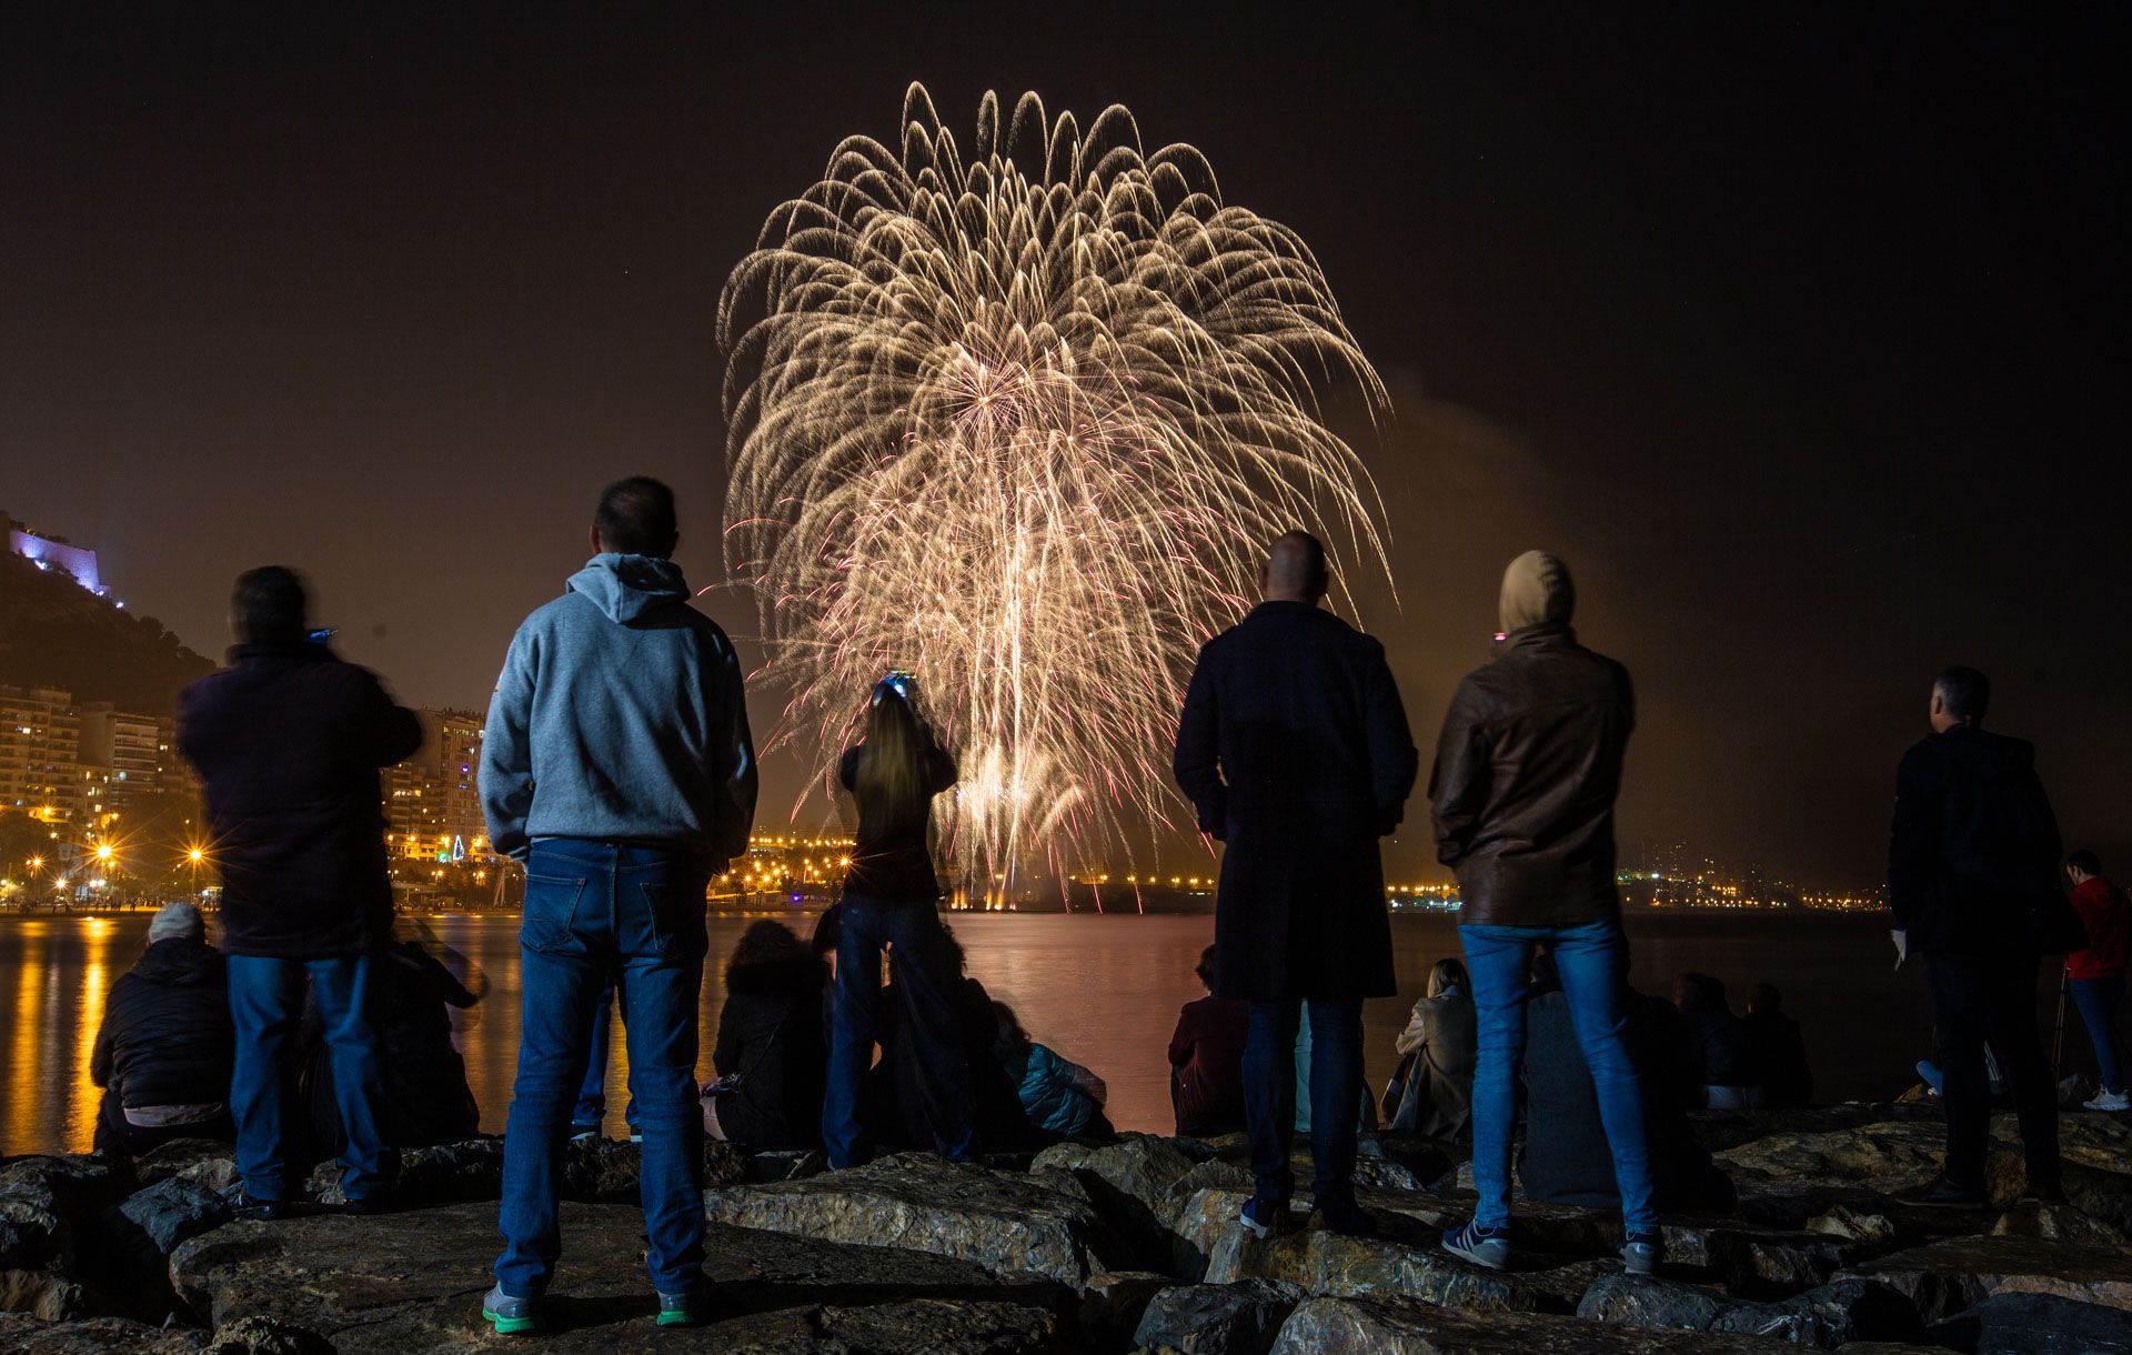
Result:
<svg viewBox="0 0 2132 1355"><path fill-rule="evenodd" d="M141 1154L171 1139L237 1139L230 1063L237 1033L222 952L190 903L166 903L147 950L111 984L90 1080L104 1088L96 1148Z"/></svg>

